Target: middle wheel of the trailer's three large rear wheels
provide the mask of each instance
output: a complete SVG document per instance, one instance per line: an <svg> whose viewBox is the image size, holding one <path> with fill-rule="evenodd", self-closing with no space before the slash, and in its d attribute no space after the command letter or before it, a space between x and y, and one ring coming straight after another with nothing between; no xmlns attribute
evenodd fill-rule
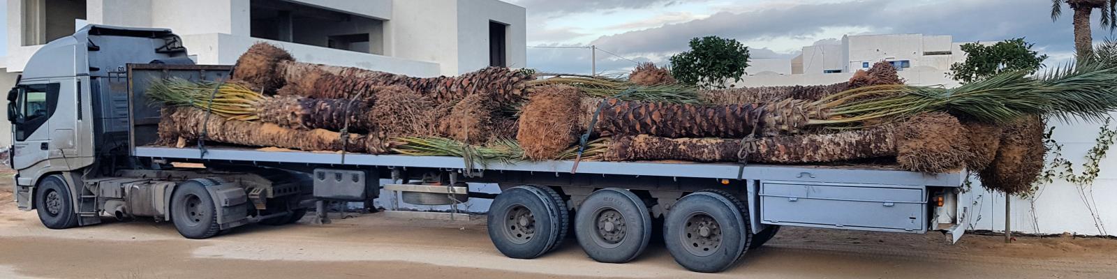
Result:
<svg viewBox="0 0 1117 279"><path fill-rule="evenodd" d="M600 262L632 261L651 240L648 205L631 191L602 189L582 202L574 219L577 243Z"/></svg>

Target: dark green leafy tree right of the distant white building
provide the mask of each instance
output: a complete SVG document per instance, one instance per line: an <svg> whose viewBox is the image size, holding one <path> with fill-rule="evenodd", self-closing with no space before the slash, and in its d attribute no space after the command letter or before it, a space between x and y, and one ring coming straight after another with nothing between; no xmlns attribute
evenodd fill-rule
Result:
<svg viewBox="0 0 1117 279"><path fill-rule="evenodd" d="M967 57L964 62L951 66L954 79L968 84L1005 71L1035 73L1048 56L1032 50L1032 45L1034 44L1024 41L1024 38L1004 40L992 46L980 42L962 45L962 51L966 51Z"/></svg>

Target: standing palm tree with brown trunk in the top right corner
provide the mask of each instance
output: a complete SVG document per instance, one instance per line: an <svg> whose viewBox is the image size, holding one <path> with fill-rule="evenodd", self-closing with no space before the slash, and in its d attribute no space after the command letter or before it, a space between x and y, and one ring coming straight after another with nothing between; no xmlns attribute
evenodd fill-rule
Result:
<svg viewBox="0 0 1117 279"><path fill-rule="evenodd" d="M1075 11L1075 50L1080 56L1088 55L1094 49L1094 38L1090 33L1090 13L1094 9L1101 10L1101 27L1113 31L1117 28L1117 0L1051 0L1051 20L1062 16L1062 3L1066 2Z"/></svg>

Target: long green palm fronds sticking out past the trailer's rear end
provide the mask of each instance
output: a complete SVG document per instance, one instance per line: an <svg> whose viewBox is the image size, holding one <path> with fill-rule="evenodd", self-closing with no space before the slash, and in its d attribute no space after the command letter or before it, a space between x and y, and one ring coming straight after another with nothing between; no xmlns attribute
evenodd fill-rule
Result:
<svg viewBox="0 0 1117 279"><path fill-rule="evenodd" d="M856 88L813 103L831 117L814 125L859 123L948 112L985 123L1004 124L1023 115L1063 121L1100 121L1117 110L1117 68L1082 61L1028 76L1010 71L956 88L881 85Z"/></svg>

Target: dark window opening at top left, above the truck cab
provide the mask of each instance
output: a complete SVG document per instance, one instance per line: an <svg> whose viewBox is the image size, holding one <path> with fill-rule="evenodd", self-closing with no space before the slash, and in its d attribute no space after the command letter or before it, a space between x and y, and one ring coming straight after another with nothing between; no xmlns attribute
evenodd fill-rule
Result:
<svg viewBox="0 0 1117 279"><path fill-rule="evenodd" d="M23 46L70 36L85 20L85 0L22 0Z"/></svg>

